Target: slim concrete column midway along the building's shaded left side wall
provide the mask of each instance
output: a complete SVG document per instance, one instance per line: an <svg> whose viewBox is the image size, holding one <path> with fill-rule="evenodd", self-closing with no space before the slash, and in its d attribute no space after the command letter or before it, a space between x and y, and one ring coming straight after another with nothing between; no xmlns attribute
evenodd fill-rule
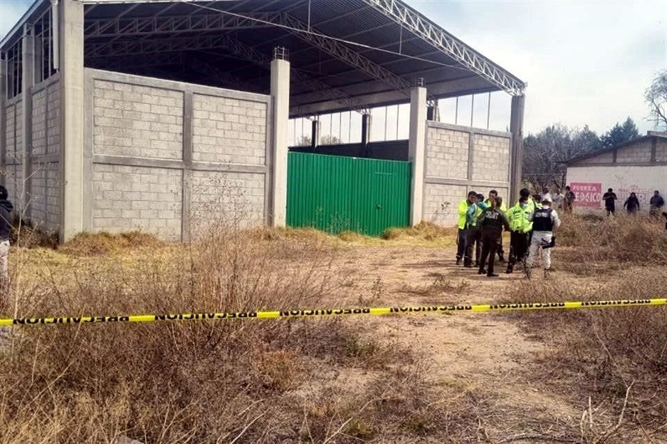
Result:
<svg viewBox="0 0 667 444"><path fill-rule="evenodd" d="M23 28L22 50L22 85L21 100L23 102L23 113L21 122L23 127L23 184L19 196L24 212L24 217L30 218L30 200L33 191L31 175L33 166L31 154L33 152L33 85L35 85L35 35L33 27L25 24Z"/></svg>

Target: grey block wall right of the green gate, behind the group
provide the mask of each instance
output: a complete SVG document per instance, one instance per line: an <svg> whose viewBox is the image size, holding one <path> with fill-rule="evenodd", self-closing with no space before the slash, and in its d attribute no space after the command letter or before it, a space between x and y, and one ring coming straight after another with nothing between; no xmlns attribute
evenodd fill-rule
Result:
<svg viewBox="0 0 667 444"><path fill-rule="evenodd" d="M511 133L427 121L423 220L455 225L468 191L509 203Z"/></svg>

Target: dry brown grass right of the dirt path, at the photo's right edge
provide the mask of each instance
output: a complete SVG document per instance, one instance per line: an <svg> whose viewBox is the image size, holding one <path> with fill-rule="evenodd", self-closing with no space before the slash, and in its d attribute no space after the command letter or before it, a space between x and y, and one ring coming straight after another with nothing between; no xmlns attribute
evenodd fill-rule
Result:
<svg viewBox="0 0 667 444"><path fill-rule="evenodd" d="M511 300L664 298L664 256L656 254L659 252L652 246L666 245L667 236L656 233L648 221L627 222L631 224L598 221L602 226L586 228L582 221L575 221L580 225L570 226L571 232L564 236L568 242L576 239L581 245L570 250L570 257L587 258L587 262L572 265L599 279L586 284L559 279L531 282L516 287ZM584 234L591 232L606 233L609 243L589 244ZM609 244L622 251L610 250ZM599 261L598 266L625 260L624 269L603 265L599 269L604 272L596 273L595 268L586 266L591 260ZM587 406L579 426L572 430L574 442L657 443L667 439L667 307L557 314L536 311L510 316L529 334L550 344L531 373L542 375L550 389Z"/></svg>

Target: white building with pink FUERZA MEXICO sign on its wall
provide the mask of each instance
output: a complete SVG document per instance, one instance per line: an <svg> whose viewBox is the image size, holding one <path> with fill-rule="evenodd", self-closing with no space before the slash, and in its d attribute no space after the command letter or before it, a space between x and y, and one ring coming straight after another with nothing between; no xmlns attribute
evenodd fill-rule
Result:
<svg viewBox="0 0 667 444"><path fill-rule="evenodd" d="M613 188L617 209L634 192L641 210L648 210L654 190L667 196L667 133L649 131L631 142L570 160L568 184L580 208L604 207L602 195Z"/></svg>

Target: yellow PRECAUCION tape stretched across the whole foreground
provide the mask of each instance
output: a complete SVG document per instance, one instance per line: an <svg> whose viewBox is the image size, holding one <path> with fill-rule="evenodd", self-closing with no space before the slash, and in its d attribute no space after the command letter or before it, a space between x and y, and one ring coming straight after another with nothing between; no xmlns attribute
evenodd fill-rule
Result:
<svg viewBox="0 0 667 444"><path fill-rule="evenodd" d="M221 313L184 313L184 314L132 314L127 316L48 316L0 318L2 325L42 325L42 324L81 324L81 323L128 323L157 321L213 321L222 319L272 319L272 318L315 318L322 316L383 315L410 313L451 313L481 311L516 311L516 310L551 310L576 308L620 308L644 307L648 305L667 305L667 298L589 300L579 302L530 302L482 305L432 305L421 307L377 307L354 309L311 309L283 311L245 311Z"/></svg>

